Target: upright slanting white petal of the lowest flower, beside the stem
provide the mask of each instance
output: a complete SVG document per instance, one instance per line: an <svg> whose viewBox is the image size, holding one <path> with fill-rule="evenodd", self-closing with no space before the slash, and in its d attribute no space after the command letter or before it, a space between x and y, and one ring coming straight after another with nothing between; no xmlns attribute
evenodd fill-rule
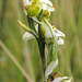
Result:
<svg viewBox="0 0 82 82"><path fill-rule="evenodd" d="M57 61L51 61L48 68L45 71L45 78L48 79L48 75L54 71L54 69L58 66L58 59Z"/></svg>

